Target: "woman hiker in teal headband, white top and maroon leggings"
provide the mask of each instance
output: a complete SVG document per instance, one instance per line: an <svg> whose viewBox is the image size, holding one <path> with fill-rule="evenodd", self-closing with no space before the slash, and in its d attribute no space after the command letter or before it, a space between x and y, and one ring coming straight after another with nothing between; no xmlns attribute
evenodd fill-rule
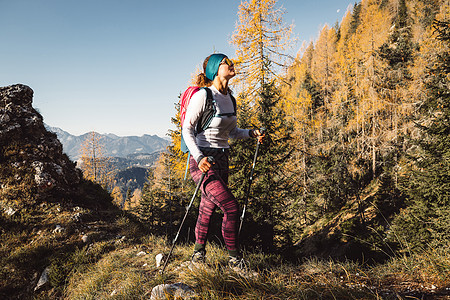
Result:
<svg viewBox="0 0 450 300"><path fill-rule="evenodd" d="M191 153L192 178L198 183L202 173L207 173L201 187L202 197L195 227L196 242L192 260L205 261L209 222L215 207L218 206L224 213L222 235L230 256L229 264L232 267L240 265L241 256L237 241L239 207L236 198L228 188L228 139L254 137L262 141L264 137L259 130L237 127L231 90L228 88L230 79L235 75L234 64L226 55L216 53L208 56L203 62L203 72L197 76L197 85L208 87L212 91L217 114L207 129L195 134L195 128L207 98L206 90L201 89L192 96L182 126L183 138ZM213 165L208 162L208 156L214 157Z"/></svg>

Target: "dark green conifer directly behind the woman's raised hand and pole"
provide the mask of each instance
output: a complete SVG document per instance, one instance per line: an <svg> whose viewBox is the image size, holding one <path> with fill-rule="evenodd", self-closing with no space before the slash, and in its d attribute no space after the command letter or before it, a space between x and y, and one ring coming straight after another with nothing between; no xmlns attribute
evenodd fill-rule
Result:
<svg viewBox="0 0 450 300"><path fill-rule="evenodd" d="M292 243L292 213L287 209L294 199L293 177L285 167L294 149L291 144L292 126L280 107L280 92L274 83L263 86L263 94L257 119L267 129L268 136L260 146L251 187L250 205L246 215L243 238L272 251L274 247L285 247ZM242 118L241 124L245 122ZM254 140L233 143L231 187L238 199L244 199L251 162ZM288 169L288 170L286 170Z"/></svg>

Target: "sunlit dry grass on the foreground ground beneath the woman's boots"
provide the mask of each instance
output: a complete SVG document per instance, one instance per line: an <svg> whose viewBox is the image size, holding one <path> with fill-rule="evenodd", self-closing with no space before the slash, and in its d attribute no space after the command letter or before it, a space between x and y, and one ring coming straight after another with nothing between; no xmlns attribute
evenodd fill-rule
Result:
<svg viewBox="0 0 450 300"><path fill-rule="evenodd" d="M138 256L143 249L147 254ZM169 249L163 239L149 236L141 247L113 251L74 273L65 298L148 299L158 284L183 282L194 288L199 299L411 299L408 297L419 294L442 296L450 283L448 253L436 256L430 252L428 260L423 256L393 259L376 267L318 259L291 264L274 255L247 253L246 258L259 275L245 278L226 266L227 254L216 246L208 248L206 267L181 267L189 260L192 246L180 245L175 247L161 276L154 258L158 253L167 254ZM401 284L406 278L414 285Z"/></svg>

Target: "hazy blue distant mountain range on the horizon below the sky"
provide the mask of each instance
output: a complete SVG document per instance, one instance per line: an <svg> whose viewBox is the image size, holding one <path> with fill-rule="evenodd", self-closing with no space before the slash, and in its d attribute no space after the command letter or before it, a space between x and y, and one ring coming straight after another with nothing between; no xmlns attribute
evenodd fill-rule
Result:
<svg viewBox="0 0 450 300"><path fill-rule="evenodd" d="M58 139L63 144L64 152L71 160L80 158L80 148L88 137L89 133L83 135L72 135L60 128L46 125L47 130L56 133ZM104 146L104 155L116 158L142 158L149 156L154 158L156 152L166 149L170 141L156 135L144 134L143 136L117 136L114 134L99 134L101 143ZM144 158L145 157L145 158Z"/></svg>

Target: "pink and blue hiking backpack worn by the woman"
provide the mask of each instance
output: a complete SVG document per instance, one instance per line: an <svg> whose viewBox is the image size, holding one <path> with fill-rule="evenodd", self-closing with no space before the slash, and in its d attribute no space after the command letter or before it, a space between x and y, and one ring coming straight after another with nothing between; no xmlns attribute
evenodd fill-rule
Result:
<svg viewBox="0 0 450 300"><path fill-rule="evenodd" d="M189 105L189 102L191 101L192 96L196 92L198 92L200 89L206 90L206 103L205 103L205 110L203 111L203 114L200 116L200 120L197 122L197 126L195 128L195 135L201 133L202 131L205 131L211 124L211 121L214 117L224 117L224 116L235 116L236 115L236 99L233 97L233 95L230 94L231 101L233 101L234 112L217 114L216 106L214 105L215 100L213 99L211 89L207 88L207 87L201 88L198 86L190 86L183 92L183 94L181 94L181 97L180 97L180 124L181 124L181 126L183 126L184 119L186 117L186 110ZM186 143L184 141L183 134L181 134L180 149L183 153L189 152L189 149L186 146ZM189 157L189 155L188 155L188 157Z"/></svg>

